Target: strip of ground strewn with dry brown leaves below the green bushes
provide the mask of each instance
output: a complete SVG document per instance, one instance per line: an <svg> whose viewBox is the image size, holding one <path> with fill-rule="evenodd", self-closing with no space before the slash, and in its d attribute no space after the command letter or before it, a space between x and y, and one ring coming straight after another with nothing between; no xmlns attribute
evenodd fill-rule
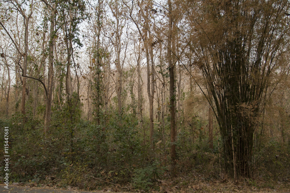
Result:
<svg viewBox="0 0 290 193"><path fill-rule="evenodd" d="M177 177L182 179L182 177ZM189 179L188 179L189 180ZM177 181L167 181L167 180L158 180L158 189L151 190L150 192L154 193L187 193L187 192L288 192L290 193L290 181L273 181L269 180L240 180L240 181L231 181L231 180L199 180L187 183L180 183L177 185ZM18 184L17 184L18 185ZM50 187L50 186L41 186L41 187L32 187L31 184L23 184L23 186L10 186L9 189L4 188L4 185L0 185L0 192L3 193L89 193L89 191L78 190L76 187L61 188L61 187ZM100 187L100 190L90 191L90 192L145 192L143 190L133 191L129 189L120 189L114 187L113 185L108 185Z"/></svg>

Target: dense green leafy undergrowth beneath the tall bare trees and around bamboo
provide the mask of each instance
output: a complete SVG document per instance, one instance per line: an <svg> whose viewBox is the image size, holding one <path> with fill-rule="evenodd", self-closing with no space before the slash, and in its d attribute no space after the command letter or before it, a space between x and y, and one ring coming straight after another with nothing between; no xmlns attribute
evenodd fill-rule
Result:
<svg viewBox="0 0 290 193"><path fill-rule="evenodd" d="M218 141L215 136L214 148L210 149L200 122L194 134L184 127L178 130L177 164L172 170L168 121L164 128L155 126L155 145L152 147L149 144L149 130L144 130L149 128L149 121L145 119L144 128L140 128L137 118L131 113L120 116L112 111L97 125L82 120L78 111L74 115L56 112L46 135L41 120L28 117L23 124L20 113L15 113L10 119L0 120L2 133L4 126L10 128L10 183L77 187L83 190L126 186L130 190L152 191L163 190L163 186L166 186L164 181L173 179L173 183L167 185L179 189L189 187L198 180L226 179L221 138ZM289 146L263 140L260 152L256 155L256 159L259 159L256 168L258 178L287 181L290 178ZM1 152L4 153L3 149ZM0 162L0 181L3 182L3 159ZM178 176L191 176L191 180L186 180L186 177L179 179ZM247 182L252 186L256 186L255 183L251 180Z"/></svg>

